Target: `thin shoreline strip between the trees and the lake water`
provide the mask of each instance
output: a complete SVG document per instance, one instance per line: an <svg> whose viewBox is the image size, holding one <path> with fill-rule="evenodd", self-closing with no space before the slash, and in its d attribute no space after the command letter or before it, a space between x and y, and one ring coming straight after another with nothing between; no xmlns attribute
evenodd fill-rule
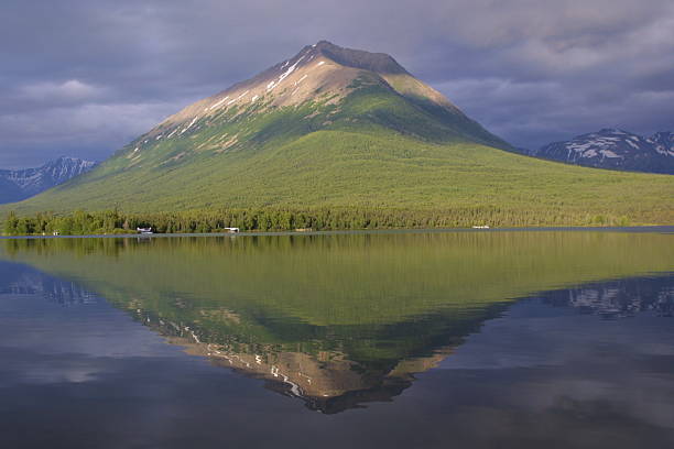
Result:
<svg viewBox="0 0 674 449"><path fill-rule="evenodd" d="M79 234L79 236L0 236L0 240L39 239L143 239L178 237L281 237L281 236L349 236L349 234L395 234L395 233L449 233L449 232L655 232L674 233L674 225L628 226L628 227L540 227L540 228L406 228L406 229L360 229L331 231L244 231L244 232L183 232L183 233L121 233L121 234Z"/></svg>

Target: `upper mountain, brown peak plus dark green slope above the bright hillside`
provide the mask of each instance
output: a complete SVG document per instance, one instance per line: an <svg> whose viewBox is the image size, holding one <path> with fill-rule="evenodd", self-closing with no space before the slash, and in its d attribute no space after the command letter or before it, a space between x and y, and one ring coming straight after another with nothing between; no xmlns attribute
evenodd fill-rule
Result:
<svg viewBox="0 0 674 449"><path fill-rule="evenodd" d="M300 113L279 116L287 107L298 108ZM139 153L156 146L157 141L198 135L199 130L224 122L238 127L198 149L236 151L317 130L370 131L376 127L427 141L508 147L391 56L320 41L249 80L188 106L122 153L140 161Z"/></svg>

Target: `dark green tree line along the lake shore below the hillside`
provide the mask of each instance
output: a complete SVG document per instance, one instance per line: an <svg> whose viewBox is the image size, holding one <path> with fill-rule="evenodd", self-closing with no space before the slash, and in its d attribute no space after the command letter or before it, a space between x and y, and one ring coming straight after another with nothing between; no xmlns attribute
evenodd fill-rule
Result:
<svg viewBox="0 0 674 449"><path fill-rule="evenodd" d="M655 222L657 223L657 222ZM118 210L70 213L39 212L19 216L10 211L4 219L4 236L86 236L135 232L152 228L156 233L296 230L358 230L395 228L631 226L627 216L547 210L512 210L476 206L449 210L316 209L268 210L220 209L176 212L126 213Z"/></svg>

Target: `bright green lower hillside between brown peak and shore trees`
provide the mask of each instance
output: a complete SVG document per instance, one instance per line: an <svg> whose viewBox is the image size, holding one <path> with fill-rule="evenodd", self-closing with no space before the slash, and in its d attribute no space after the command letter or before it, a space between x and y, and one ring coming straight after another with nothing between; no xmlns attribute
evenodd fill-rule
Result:
<svg viewBox="0 0 674 449"><path fill-rule="evenodd" d="M187 173L185 173L187 172ZM583 225L586 215L674 222L674 178L568 166L471 144L319 131L267 152L204 157L187 167L89 175L14 206L20 212L148 212L208 207L372 207L443 210L498 206ZM565 220L573 217L572 220ZM551 222L554 223L554 222Z"/></svg>

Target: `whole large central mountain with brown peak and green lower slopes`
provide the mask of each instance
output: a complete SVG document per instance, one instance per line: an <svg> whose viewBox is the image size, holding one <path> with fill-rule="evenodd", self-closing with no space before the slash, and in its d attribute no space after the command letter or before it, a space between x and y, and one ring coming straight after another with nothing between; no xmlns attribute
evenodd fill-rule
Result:
<svg viewBox="0 0 674 449"><path fill-rule="evenodd" d="M512 151L391 56L322 41L187 106L91 172L12 209L359 208L498 215L511 226L674 220L674 206L663 208L668 177Z"/></svg>

